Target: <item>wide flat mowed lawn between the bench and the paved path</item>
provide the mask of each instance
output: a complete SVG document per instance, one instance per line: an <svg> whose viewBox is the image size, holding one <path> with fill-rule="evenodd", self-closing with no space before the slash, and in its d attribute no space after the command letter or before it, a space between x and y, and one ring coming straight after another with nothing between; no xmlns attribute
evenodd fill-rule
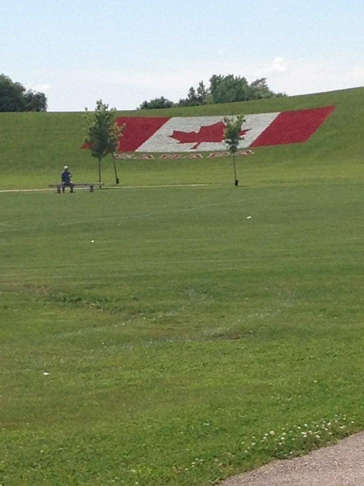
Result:
<svg viewBox="0 0 364 486"><path fill-rule="evenodd" d="M0 484L203 486L364 426L362 184L0 200Z"/></svg>

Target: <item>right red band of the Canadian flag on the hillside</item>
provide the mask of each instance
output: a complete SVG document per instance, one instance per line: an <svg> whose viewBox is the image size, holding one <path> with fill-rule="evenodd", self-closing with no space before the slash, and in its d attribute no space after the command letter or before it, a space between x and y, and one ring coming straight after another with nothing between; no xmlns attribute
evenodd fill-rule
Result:
<svg viewBox="0 0 364 486"><path fill-rule="evenodd" d="M335 106L309 110L282 111L252 147L305 142L334 111Z"/></svg>

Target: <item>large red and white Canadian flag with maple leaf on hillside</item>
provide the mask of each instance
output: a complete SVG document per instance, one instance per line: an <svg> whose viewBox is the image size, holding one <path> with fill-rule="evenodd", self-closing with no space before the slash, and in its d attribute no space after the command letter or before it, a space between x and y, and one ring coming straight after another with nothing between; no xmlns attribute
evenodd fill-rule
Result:
<svg viewBox="0 0 364 486"><path fill-rule="evenodd" d="M335 106L245 116L239 148L305 142ZM117 118L125 124L119 152L225 150L223 116Z"/></svg>

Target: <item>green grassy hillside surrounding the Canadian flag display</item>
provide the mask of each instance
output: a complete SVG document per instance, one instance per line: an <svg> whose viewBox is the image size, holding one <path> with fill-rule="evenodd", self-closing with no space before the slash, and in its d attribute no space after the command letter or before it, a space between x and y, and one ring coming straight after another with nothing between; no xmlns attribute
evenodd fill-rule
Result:
<svg viewBox="0 0 364 486"><path fill-rule="evenodd" d="M255 148L240 161L239 179L247 185L362 181L364 88L314 95L169 110L123 112L129 116L195 116L258 113L336 105L335 112L304 144ZM95 179L96 160L82 143L82 113L0 113L0 188L45 187L58 181L68 164L75 180ZM103 163L105 183L114 182L112 161ZM231 183L228 159L119 161L124 185L155 183Z"/></svg>

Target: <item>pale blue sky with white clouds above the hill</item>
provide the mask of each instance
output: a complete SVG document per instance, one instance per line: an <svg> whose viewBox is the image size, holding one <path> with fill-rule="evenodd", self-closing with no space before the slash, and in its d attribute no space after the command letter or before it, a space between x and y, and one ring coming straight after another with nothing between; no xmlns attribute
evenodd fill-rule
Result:
<svg viewBox="0 0 364 486"><path fill-rule="evenodd" d="M49 111L135 109L212 74L288 95L364 86L363 0L3 0L0 73Z"/></svg>

